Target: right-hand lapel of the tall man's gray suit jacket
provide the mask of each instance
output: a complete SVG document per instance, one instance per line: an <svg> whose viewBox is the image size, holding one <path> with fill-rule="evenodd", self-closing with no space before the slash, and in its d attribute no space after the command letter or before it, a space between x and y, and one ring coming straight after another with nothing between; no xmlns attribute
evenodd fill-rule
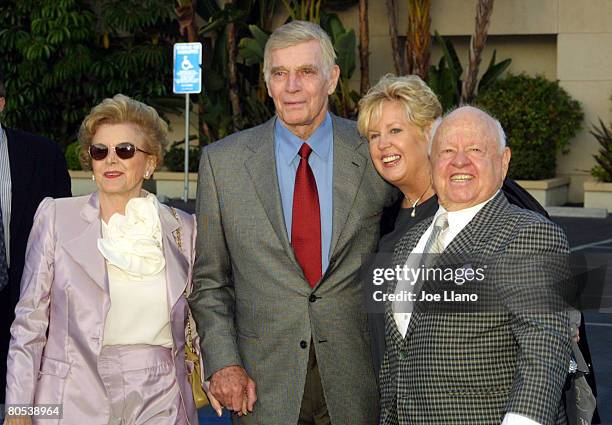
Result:
<svg viewBox="0 0 612 425"><path fill-rule="evenodd" d="M355 201L357 191L361 186L361 179L366 170L367 161L357 148L363 143L361 139L355 140L351 130L351 137L341 127L341 122L332 115L334 128L334 182L333 182L333 221L332 239L330 245L330 259L338 254L340 248L338 241L344 230L349 213Z"/></svg>

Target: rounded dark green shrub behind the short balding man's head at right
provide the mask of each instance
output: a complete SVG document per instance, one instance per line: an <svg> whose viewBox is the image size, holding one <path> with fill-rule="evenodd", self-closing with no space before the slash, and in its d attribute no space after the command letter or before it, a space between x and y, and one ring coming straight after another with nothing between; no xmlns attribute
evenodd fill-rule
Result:
<svg viewBox="0 0 612 425"><path fill-rule="evenodd" d="M584 116L578 101L542 76L509 75L479 93L475 103L504 127L515 179L554 177L556 154L567 153Z"/></svg>

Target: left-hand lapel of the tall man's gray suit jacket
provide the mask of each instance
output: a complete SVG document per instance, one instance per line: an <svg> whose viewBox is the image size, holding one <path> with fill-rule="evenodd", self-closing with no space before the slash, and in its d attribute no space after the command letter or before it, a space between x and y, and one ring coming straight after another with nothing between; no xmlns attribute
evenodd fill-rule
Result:
<svg viewBox="0 0 612 425"><path fill-rule="evenodd" d="M291 242L287 235L285 217L283 215L283 205L280 188L278 186L276 158L274 153L275 120L276 118L272 118L259 127L259 134L257 134L248 145L253 154L245 161L244 165L251 176L257 197L266 211L266 216L276 236L280 240L286 254L289 256L294 266L302 273L302 268L295 258Z"/></svg>

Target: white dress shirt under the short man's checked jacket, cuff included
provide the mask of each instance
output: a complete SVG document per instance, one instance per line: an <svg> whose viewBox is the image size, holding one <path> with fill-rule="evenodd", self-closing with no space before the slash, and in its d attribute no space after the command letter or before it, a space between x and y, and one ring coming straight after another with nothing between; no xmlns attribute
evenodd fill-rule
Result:
<svg viewBox="0 0 612 425"><path fill-rule="evenodd" d="M419 242L416 244L416 246L414 247L414 249L408 256L408 259L406 260L406 266L414 267L414 268L418 267L420 263L421 255L423 254L423 249L425 248L425 244L427 243L427 240L429 239L429 236L431 235L431 232L433 230L433 225L436 222L436 218L438 218L439 215L444 214L444 213L448 214L448 228L441 235L441 237L443 238L444 249L446 249L446 247L450 245L453 239L455 239L455 237L465 228L465 226L467 226L470 223L470 221L472 221L472 219L476 216L476 214L478 214L478 212L488 202L490 202L493 198L495 198L495 196L497 196L498 193L499 191L495 192L495 194L491 198L487 199L485 202L482 202L478 205L474 205L473 207L465 208L459 211L446 211L446 209L443 206L440 206L438 208L438 211L436 211L436 214L434 215L434 218L431 224L429 225L427 230L425 230L425 233L421 235ZM413 283L410 280L408 281L398 280L397 286L395 288L395 293L399 294L401 293L402 290L407 290L408 285L412 286ZM395 323L397 324L398 330L400 331L402 336L405 337L406 332L408 331L408 324L410 323L410 317L412 316L412 313L395 312L396 310L399 310L399 308L395 308L394 306L393 318L395 319ZM541 424L525 416L518 415L516 413L506 413L501 425L541 425Z"/></svg>

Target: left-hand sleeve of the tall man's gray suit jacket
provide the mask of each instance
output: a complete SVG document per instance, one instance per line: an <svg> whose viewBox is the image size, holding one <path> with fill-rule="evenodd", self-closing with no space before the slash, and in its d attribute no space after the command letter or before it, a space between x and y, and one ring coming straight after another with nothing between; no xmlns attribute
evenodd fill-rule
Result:
<svg viewBox="0 0 612 425"><path fill-rule="evenodd" d="M202 152L196 201L198 222L193 292L189 306L204 353L205 376L227 366L242 365L234 326L234 286L219 204L207 149Z"/></svg>

